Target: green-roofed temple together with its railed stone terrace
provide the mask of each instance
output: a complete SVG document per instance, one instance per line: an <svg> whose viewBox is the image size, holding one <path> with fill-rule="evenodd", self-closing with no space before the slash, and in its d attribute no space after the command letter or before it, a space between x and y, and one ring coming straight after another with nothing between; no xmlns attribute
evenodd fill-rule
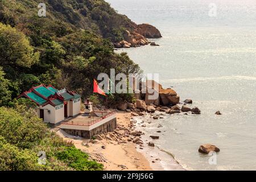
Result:
<svg viewBox="0 0 256 182"><path fill-rule="evenodd" d="M52 85L33 86L18 98L28 98L38 106L38 117L59 127L69 135L92 138L117 128L116 114L94 111L93 103L86 100L81 110L80 94L67 89L58 90Z"/></svg>

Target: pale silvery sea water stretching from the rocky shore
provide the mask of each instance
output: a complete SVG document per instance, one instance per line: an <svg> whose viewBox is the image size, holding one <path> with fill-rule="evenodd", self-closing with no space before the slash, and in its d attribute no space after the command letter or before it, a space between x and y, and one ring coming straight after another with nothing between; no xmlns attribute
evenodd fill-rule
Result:
<svg viewBox="0 0 256 182"><path fill-rule="evenodd" d="M256 1L107 0L136 23L156 26L160 47L121 49L144 73L159 73L160 84L181 100L192 98L201 115L166 115L147 134L156 146L188 169L256 170ZM216 5L216 16L209 16ZM220 110L222 115L215 115ZM156 133L157 127L163 125ZM220 148L216 164L201 155L201 144Z"/></svg>

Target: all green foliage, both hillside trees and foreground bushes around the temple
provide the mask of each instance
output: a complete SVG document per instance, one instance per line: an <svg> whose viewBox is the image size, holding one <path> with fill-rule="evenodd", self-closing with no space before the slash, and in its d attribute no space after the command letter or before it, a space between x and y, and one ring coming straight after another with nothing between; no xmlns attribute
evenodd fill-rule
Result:
<svg viewBox="0 0 256 182"><path fill-rule="evenodd" d="M135 24L103 0L45 2L47 16L41 18L40 0L0 2L0 170L101 170L101 164L49 131L32 102L15 98L39 84L76 90L85 98L92 96L99 73L109 74L110 68L140 73L126 53L114 53L111 43ZM39 151L46 152L46 165L38 163Z"/></svg>

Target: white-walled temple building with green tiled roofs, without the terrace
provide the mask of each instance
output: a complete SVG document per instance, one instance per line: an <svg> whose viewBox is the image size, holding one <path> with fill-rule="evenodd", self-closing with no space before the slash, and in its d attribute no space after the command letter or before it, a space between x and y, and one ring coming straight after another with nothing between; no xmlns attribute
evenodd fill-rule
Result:
<svg viewBox="0 0 256 182"><path fill-rule="evenodd" d="M33 86L18 98L28 98L38 105L38 116L44 122L56 124L81 112L81 96L67 89L57 90L52 85Z"/></svg>

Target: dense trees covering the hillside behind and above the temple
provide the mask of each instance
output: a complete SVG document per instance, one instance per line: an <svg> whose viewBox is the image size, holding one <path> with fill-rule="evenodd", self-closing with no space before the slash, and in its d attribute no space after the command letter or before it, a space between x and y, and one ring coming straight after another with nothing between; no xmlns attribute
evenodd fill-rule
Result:
<svg viewBox="0 0 256 182"><path fill-rule="evenodd" d="M40 1L0 3L0 66L13 98L33 85L52 84L92 94L99 73L138 73L137 64L113 51L110 40L134 27L102 0L46 1L47 16L38 16ZM108 39L103 39L108 38ZM119 96L117 96L119 97Z"/></svg>

